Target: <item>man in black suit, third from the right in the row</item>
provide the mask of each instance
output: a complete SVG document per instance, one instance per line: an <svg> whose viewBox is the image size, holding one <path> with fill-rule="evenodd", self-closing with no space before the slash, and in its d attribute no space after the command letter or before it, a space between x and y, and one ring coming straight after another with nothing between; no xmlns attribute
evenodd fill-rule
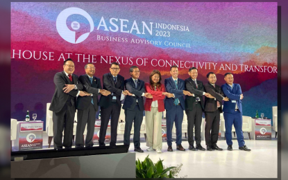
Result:
<svg viewBox="0 0 288 180"><path fill-rule="evenodd" d="M185 80L185 89L190 93L194 93L194 96L186 96L185 99L189 150L205 151L205 148L201 146L201 123L204 110L203 95L209 97L210 94L205 93L203 82L196 80L198 70L195 67L190 68L188 74L190 78ZM196 148L194 147L193 128L195 128Z"/></svg>

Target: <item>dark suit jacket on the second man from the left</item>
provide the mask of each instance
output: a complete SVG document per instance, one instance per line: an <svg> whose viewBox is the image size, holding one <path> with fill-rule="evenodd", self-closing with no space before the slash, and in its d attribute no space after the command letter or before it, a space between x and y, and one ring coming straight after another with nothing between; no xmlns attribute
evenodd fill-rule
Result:
<svg viewBox="0 0 288 180"><path fill-rule="evenodd" d="M83 84L83 90L87 91L87 93L92 93L93 96L78 96L76 109L85 110L89 108L93 98L94 108L98 111L98 96L100 95L99 89L101 89L100 79L93 76L91 84L90 78L85 74L80 75L79 80Z"/></svg>

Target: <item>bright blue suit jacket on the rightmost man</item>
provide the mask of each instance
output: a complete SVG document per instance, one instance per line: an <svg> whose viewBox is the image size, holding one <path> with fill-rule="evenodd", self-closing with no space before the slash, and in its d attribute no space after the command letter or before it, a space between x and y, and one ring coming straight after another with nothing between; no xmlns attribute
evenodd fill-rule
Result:
<svg viewBox="0 0 288 180"><path fill-rule="evenodd" d="M223 105L223 112L232 113L235 112L236 104L240 112L242 112L242 100L240 100L240 95L242 90L239 84L232 84L232 88L226 83L222 85L222 91L230 100L225 101ZM232 102L232 100L236 100Z"/></svg>

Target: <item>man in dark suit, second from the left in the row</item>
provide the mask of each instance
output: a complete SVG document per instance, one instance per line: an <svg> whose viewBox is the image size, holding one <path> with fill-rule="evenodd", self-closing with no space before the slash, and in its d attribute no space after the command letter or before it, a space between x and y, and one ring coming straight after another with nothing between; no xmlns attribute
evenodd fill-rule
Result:
<svg viewBox="0 0 288 180"><path fill-rule="evenodd" d="M92 63L85 65L85 75L80 75L79 80L83 84L87 96L77 99L77 127L75 147L84 147L83 133L87 124L87 134L85 139L85 147L92 147L94 136L94 125L96 111L98 111L98 96L108 96L109 91L103 90L99 78L96 78L95 66Z"/></svg>

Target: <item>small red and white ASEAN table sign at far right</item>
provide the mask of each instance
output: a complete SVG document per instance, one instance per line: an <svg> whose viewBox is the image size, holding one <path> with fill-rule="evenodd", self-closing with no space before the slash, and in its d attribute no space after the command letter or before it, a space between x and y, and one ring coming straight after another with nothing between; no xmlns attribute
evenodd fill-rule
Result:
<svg viewBox="0 0 288 180"><path fill-rule="evenodd" d="M271 119L255 119L255 140L271 140Z"/></svg>

